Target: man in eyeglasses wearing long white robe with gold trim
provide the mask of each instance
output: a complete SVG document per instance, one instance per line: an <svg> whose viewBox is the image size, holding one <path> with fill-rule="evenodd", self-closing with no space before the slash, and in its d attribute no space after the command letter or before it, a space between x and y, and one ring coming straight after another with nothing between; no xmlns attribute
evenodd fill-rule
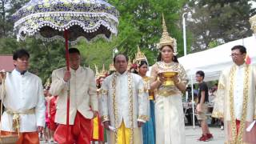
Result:
<svg viewBox="0 0 256 144"><path fill-rule="evenodd" d="M214 118L224 121L226 143L256 143L256 67L245 62L246 47L231 49L234 62L218 82Z"/></svg>

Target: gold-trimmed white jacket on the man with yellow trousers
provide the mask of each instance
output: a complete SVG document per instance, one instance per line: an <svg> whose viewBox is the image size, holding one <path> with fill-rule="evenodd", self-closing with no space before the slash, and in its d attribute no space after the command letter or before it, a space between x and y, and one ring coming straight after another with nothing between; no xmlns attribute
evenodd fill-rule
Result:
<svg viewBox="0 0 256 144"><path fill-rule="evenodd" d="M110 121L111 126L118 128L123 120L126 128L135 128L138 121L148 120L149 98L138 74L111 74L102 83L100 93L102 122Z"/></svg>

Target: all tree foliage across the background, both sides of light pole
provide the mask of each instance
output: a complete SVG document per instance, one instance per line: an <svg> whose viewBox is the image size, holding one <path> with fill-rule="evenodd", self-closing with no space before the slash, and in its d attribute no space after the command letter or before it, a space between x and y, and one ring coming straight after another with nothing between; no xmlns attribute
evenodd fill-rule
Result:
<svg viewBox="0 0 256 144"><path fill-rule="evenodd" d="M11 14L29 0L0 0L0 54L12 54L18 48L26 48L31 54L30 70L43 80L50 77L52 70L65 66L64 42L41 42L27 38L17 42L13 34L14 22ZM256 0L254 0L256 1ZM156 61L156 43L162 35L162 14L170 36L178 41L178 56L183 54L182 13L193 11L193 20L187 27L187 46L194 51L218 46L223 42L250 36L248 19L255 14L246 0L109 0L120 12L118 35L112 42L99 39L96 42L78 42L82 53L82 65L94 69L106 68L112 62L114 48L134 58L137 45L146 54L150 65ZM188 2L188 3L187 3ZM188 50L190 52L190 49Z"/></svg>

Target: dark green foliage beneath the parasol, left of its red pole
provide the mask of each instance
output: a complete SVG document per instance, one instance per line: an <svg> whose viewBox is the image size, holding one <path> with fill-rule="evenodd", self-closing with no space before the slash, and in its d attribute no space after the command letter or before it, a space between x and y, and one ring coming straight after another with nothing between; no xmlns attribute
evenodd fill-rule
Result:
<svg viewBox="0 0 256 144"><path fill-rule="evenodd" d="M30 71L46 82L54 69L65 66L65 47L63 42L42 42L27 38L26 42L17 42L15 38L0 39L0 54L13 54L20 48L30 53Z"/></svg>

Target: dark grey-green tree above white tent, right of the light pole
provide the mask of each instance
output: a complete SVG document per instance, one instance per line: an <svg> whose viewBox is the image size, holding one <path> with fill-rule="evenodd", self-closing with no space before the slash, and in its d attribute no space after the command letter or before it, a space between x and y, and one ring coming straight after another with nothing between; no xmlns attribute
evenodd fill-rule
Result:
<svg viewBox="0 0 256 144"><path fill-rule="evenodd" d="M189 22L194 51L207 49L212 42L222 44L252 34L249 18L254 9L248 0L192 0L189 6L194 11Z"/></svg>

